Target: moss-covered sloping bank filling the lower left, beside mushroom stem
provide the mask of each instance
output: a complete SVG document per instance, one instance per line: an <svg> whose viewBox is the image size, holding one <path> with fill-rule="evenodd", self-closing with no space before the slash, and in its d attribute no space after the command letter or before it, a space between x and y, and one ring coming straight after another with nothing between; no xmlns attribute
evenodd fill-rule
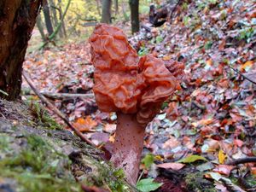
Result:
<svg viewBox="0 0 256 192"><path fill-rule="evenodd" d="M84 184L133 191L123 172L102 160L101 151L61 130L39 106L0 104L0 189L75 192Z"/></svg>

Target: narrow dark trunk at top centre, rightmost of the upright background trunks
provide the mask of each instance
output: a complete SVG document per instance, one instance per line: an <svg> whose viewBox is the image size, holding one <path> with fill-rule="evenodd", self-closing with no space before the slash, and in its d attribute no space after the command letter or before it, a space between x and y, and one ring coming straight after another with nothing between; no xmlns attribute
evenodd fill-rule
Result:
<svg viewBox="0 0 256 192"><path fill-rule="evenodd" d="M131 9L131 32L138 32L140 30L139 22L139 0L129 0Z"/></svg>

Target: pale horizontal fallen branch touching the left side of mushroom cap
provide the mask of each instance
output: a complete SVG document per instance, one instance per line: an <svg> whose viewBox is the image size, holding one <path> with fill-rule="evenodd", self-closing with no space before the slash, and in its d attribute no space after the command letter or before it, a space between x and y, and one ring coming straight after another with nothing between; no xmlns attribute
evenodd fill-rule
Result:
<svg viewBox="0 0 256 192"><path fill-rule="evenodd" d="M69 98L90 98L94 99L94 94L73 94L73 93L51 93L51 92L40 92L43 96L46 96L50 99L69 99Z"/></svg>

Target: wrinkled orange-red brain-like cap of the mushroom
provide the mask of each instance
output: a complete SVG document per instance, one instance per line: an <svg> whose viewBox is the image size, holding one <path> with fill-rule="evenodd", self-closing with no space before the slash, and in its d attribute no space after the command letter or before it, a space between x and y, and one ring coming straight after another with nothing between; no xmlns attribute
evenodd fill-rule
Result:
<svg viewBox="0 0 256 192"><path fill-rule="evenodd" d="M103 112L135 113L137 121L146 125L159 113L161 102L179 88L178 74L174 76L153 55L139 59L117 27L96 26L90 45L96 67L93 90Z"/></svg>

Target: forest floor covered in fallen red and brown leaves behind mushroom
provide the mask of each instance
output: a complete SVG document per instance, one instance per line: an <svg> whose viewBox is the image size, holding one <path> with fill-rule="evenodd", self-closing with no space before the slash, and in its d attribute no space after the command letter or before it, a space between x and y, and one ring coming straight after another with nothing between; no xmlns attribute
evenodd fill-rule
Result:
<svg viewBox="0 0 256 192"><path fill-rule="evenodd" d="M186 66L183 90L147 127L142 177L164 183L159 191L175 191L176 182L176 191L255 191L256 3L179 2L165 25L130 38L139 55ZM87 94L52 102L93 143L111 146L116 115L100 112L91 97L94 68L86 41L28 54L24 69L46 95ZM32 94L25 81L23 92L24 98Z"/></svg>

